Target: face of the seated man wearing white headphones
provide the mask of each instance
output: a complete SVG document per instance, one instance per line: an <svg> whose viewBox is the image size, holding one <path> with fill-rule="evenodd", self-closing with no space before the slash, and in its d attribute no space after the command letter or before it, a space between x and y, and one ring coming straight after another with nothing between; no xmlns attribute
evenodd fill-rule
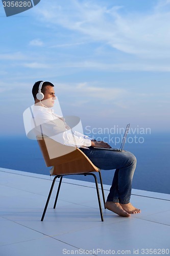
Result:
<svg viewBox="0 0 170 256"><path fill-rule="evenodd" d="M44 98L43 98L43 104L47 106L47 108L52 108L55 103L55 91L54 87L52 86L45 86L45 92L44 92Z"/></svg>

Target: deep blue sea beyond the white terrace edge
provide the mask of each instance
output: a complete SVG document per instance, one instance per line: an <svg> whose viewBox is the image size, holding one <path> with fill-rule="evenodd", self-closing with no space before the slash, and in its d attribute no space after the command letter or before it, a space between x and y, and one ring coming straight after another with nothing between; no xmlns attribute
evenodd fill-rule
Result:
<svg viewBox="0 0 170 256"><path fill-rule="evenodd" d="M100 135L107 140L109 134ZM91 137L95 137L92 136ZM26 136L0 137L0 167L50 175L36 140ZM110 142L111 146L112 141ZM116 145L116 147L120 144ZM127 140L124 149L137 158L132 187L135 189L170 194L170 134L144 134L136 141ZM115 170L102 170L104 184L111 185ZM69 176L71 179L94 182L91 177Z"/></svg>

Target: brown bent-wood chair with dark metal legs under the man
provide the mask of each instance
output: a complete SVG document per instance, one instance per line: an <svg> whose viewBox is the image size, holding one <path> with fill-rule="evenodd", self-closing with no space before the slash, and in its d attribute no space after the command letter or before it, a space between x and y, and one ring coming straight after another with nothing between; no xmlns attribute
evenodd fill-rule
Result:
<svg viewBox="0 0 170 256"><path fill-rule="evenodd" d="M98 180L96 178L96 175L92 173L92 172L99 173L103 202L105 205L105 196L104 196L104 189L103 189L102 176L101 176L100 169L96 167L79 148L75 146L66 146L51 138L44 137L44 136L43 137L37 136L37 141L40 146L46 166L47 167L53 166L51 169L51 175L55 176L51 185L50 192L47 197L47 201L45 204L41 221L43 221L44 219L45 212L46 212L48 203L50 201L56 179L60 178L60 181L59 181L57 195L54 203L54 209L56 208L56 203L59 196L59 191L60 191L63 176L74 175L74 174L84 175L84 176L91 175L94 177L96 193L98 195L101 220L104 221Z"/></svg>

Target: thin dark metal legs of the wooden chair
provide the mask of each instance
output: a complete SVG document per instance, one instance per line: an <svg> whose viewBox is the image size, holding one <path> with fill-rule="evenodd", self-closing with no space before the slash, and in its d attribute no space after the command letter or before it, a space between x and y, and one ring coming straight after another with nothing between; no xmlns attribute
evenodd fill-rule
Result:
<svg viewBox="0 0 170 256"><path fill-rule="evenodd" d="M104 202L104 207L105 207L105 194L104 194L104 189L103 189L102 175L101 175L101 172L100 172L100 171L99 171L98 173L99 173L99 177L100 177L100 183L101 183L101 189L102 189L102 196L103 196L103 202ZM51 188L50 188L50 192L49 192L48 197L47 197L47 200L46 200L46 204L45 204L45 207L44 207L44 210L43 210L43 214L42 214L42 217L41 217L41 221L43 221L43 219L44 219L44 216L45 216L45 213L46 213L46 209L47 209L48 203L49 203L49 201L50 201L50 198L51 198L51 195L52 195L52 191L53 191L53 188L54 188L54 184L55 184L56 179L57 179L57 178L60 178L60 181L59 181L59 185L58 185L58 189L57 189L57 195L56 195L56 199L55 199L55 203L54 203L54 207L53 207L54 209L56 208L56 204L57 204L57 200L58 200L58 196L59 196L59 192L60 192L60 187L61 187L61 183L62 183L63 176L68 176L68 175L84 175L84 176L91 175L91 176L94 177L95 187L96 187L96 193L97 193L98 202L99 202L99 209L100 209L101 221L104 221L104 218L103 218L103 211L102 211L102 206L101 206L100 193L99 193L98 179L97 179L96 175L93 174L93 173L56 175L56 176L54 177L54 179L53 179L53 182L52 182L52 185L51 185Z"/></svg>

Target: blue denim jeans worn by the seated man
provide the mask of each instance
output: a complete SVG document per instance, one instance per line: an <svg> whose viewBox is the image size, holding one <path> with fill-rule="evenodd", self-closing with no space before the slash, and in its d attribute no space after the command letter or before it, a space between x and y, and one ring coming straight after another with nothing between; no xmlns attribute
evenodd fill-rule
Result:
<svg viewBox="0 0 170 256"><path fill-rule="evenodd" d="M128 151L100 150L93 147L80 148L92 163L100 169L116 169L107 201L128 204L132 179L136 168L136 157Z"/></svg>

